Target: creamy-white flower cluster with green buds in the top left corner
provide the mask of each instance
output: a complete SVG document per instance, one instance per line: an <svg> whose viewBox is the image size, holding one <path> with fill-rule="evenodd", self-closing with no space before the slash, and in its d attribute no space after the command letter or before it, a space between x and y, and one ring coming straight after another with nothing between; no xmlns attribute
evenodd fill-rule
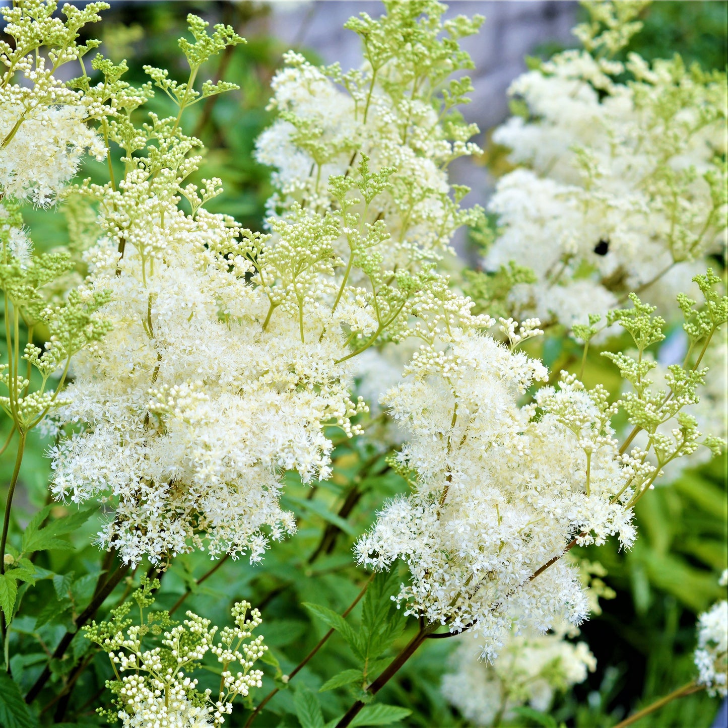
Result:
<svg viewBox="0 0 728 728"><path fill-rule="evenodd" d="M82 11L67 5L65 21L53 16L56 7L23 0L0 9L4 32L15 41L13 47L0 41L0 193L36 205L55 199L87 152L106 158L103 140L87 124L100 109L54 74L98 45L77 45L75 39L79 27L99 20L98 11L108 4L90 3ZM50 41L44 49L49 58L38 52L43 39Z"/></svg>

